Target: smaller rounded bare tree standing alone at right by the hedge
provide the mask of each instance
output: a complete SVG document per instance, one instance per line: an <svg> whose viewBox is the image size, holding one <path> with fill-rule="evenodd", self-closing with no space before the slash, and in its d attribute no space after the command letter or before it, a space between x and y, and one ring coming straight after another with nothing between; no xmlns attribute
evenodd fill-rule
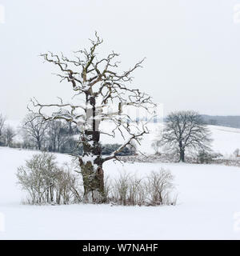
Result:
<svg viewBox="0 0 240 256"><path fill-rule="evenodd" d="M167 150L177 152L179 161L185 162L186 149L210 150L210 131L195 111L177 111L166 118L160 140Z"/></svg>

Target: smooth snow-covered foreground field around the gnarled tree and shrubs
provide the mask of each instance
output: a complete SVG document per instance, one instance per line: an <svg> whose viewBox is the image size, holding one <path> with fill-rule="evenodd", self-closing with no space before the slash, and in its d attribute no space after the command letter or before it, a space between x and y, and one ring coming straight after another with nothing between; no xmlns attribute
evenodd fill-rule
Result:
<svg viewBox="0 0 240 256"><path fill-rule="evenodd" d="M104 166L110 177L165 167L175 176L177 206L25 206L17 167L35 152L0 147L0 239L239 239L240 169L214 165L134 163ZM59 162L69 157L58 154ZM0 214L0 218L2 216ZM1 224L1 219L0 219ZM96 228L97 227L97 228Z"/></svg>

